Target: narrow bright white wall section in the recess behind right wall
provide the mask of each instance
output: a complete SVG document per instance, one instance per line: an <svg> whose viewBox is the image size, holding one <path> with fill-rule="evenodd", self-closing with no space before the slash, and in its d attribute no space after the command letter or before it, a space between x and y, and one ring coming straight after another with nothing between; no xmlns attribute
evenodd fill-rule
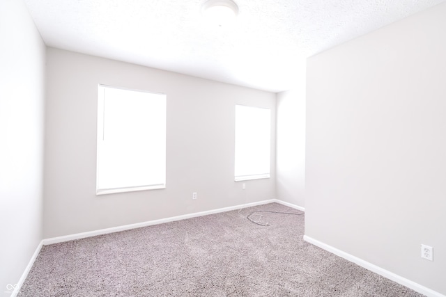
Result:
<svg viewBox="0 0 446 297"><path fill-rule="evenodd" d="M305 65L298 85L277 94L277 199L305 207Z"/></svg>

